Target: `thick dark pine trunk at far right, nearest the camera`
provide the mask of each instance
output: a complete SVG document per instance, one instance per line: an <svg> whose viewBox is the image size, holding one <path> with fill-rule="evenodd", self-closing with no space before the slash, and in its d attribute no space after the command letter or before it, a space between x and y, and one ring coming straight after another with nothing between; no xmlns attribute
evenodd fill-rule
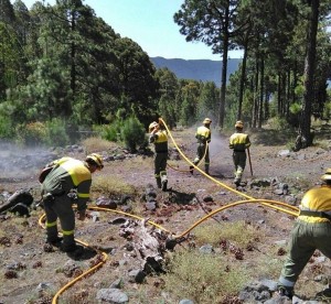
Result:
<svg viewBox="0 0 331 304"><path fill-rule="evenodd" d="M318 31L318 19L319 19L319 0L311 0L311 15L308 30L308 43L307 43L307 55L305 61L305 94L303 94L303 107L300 130L301 135L307 141L307 146L312 144L312 134L310 133L311 127L311 101L313 99L313 76L316 69L316 43L317 43L317 31ZM303 146L305 148L305 146Z"/></svg>

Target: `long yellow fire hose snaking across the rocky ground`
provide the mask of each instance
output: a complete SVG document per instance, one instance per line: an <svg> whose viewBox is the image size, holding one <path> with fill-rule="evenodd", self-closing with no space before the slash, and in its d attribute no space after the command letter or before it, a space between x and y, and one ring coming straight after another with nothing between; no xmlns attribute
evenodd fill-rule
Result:
<svg viewBox="0 0 331 304"><path fill-rule="evenodd" d="M217 180L213 178L212 176L210 176L209 174L206 174L204 171L202 171L199 166L194 165L184 154L183 152L180 150L180 148L178 146L178 144L175 143L170 130L168 129L167 124L164 123L164 121L160 118L160 120L163 122L174 146L177 148L177 150L179 151L179 153L182 155L182 158L190 164L192 165L195 170L197 170L200 173L202 173L204 176L206 176L207 178L210 178L212 182L218 184L220 186L231 191L231 192L234 192L241 196L244 196L245 200L237 200L235 203L232 203L232 204L227 204L225 206L222 206L213 211L211 211L210 214L205 215L204 217L202 217L200 220L197 220L195 224L193 224L189 229L186 229L185 231L183 231L182 234L180 235L173 235L170 230L166 229L164 227L151 221L151 220L148 220L147 222L163 230L164 232L171 235L171 238L172 239L180 239L182 238L183 236L188 235L191 230L193 230L197 225L200 225L201 222L205 221L206 219L209 219L210 217L214 216L215 214L220 213L220 211L223 211L227 208L231 208L231 207L235 207L235 206L239 206L239 205L243 205L243 204L260 204L263 206L266 206L266 207L269 207L269 208L273 208L275 210L278 210L278 211L282 211L282 213L286 213L288 215L291 215L291 216L298 216L299 215L299 208L298 207L295 207L295 206L291 206L291 205L288 205L286 203L282 203L282 202L277 202L277 200L270 200L270 199L255 199L242 192L238 192L234 188L231 188L229 186L218 182ZM274 205L277 205L277 206L274 206ZM286 208L281 208L279 206L284 206ZM120 211L120 210L115 210L115 209L108 209L108 208L103 208L103 207L94 207L94 206L89 206L88 209L92 209L92 210L103 210L103 211L111 211L111 213L116 213L116 214L120 214L120 215L124 215L124 216L128 216L128 217L131 217L131 218L135 218L135 219L139 219L139 220L143 220L145 218L143 217L139 217L137 215L132 215L132 214L127 214L125 211ZM39 225L42 226L44 228L44 225L43 225L43 221L45 219L45 214L43 214L40 219L39 219ZM93 250L95 250L97 253L102 254L103 256L103 259L94 267L92 267L90 269L88 269L87 271L85 271L84 273L82 273L79 276L75 278L73 281L68 282L67 284L65 284L64 286L61 287L61 290L58 290L56 292L56 294L54 295L53 300L52 300L52 304L56 304L57 303L57 298L58 296L67 289L70 289L72 285L74 285L77 281L82 280L83 278L86 278L88 274L90 274L92 272L94 272L95 270L99 269L108 259L108 256L107 253L94 248L94 247L90 247L88 243L86 242L83 242L78 239L76 239L76 241L85 247L88 247Z"/></svg>

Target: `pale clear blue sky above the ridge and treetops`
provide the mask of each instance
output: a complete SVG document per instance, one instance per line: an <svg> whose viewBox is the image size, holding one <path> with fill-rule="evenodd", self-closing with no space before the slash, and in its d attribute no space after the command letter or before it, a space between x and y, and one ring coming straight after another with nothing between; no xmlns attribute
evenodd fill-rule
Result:
<svg viewBox="0 0 331 304"><path fill-rule="evenodd" d="M42 0L41 0L42 1ZM13 3L14 0L11 0ZM28 9L35 0L22 0ZM55 4L55 0L44 3ZM97 17L110 25L121 37L129 37L140 45L149 57L221 61L221 54L213 54L202 42L186 42L174 23L173 14L184 0L83 0L94 9ZM229 53L241 58L242 52Z"/></svg>

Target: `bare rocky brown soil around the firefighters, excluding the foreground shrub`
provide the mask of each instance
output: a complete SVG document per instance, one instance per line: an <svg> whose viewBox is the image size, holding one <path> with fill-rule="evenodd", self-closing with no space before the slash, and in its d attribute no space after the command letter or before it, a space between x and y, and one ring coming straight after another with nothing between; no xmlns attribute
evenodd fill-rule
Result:
<svg viewBox="0 0 331 304"><path fill-rule="evenodd" d="M194 130L177 130L172 137L184 156L192 160L195 156ZM113 207L115 204L117 210L130 213L135 206L136 213L140 210L137 216L158 222L172 235L180 235L209 213L239 200L264 198L298 206L302 194L319 184L320 175L331 166L328 134L321 138L317 134L317 142L323 141L323 144L290 152L286 146L287 139L278 132L255 131L250 132L252 172L247 164L244 183L235 189L227 138L228 134L218 135L213 132L210 176L199 171L191 175L184 156L170 140L169 189L152 189L156 194L152 196L154 205L147 202L147 192L150 185L154 186L151 155L130 154L121 149L116 152L95 151L105 156L106 163L105 169L94 177L122 181L135 187L137 195L110 199L102 193L95 193L92 206L103 199L108 199L110 205L113 203ZM171 296L162 294L162 284L158 276L141 273L141 260L130 250L132 239L124 236L127 231L124 232L121 226L116 224L116 220L120 222L125 218L121 214L90 209L89 217L84 222L77 222L76 238L100 251L86 249L83 256L75 257L63 253L57 248L44 247L44 231L40 224L43 209L35 206L40 199L38 173L56 156L72 155L83 160L84 153L79 145L61 151L20 150L9 144L0 149L0 203L6 204L19 189L29 189L34 198L29 217L19 217L12 213L0 216L0 303L52 303L53 296L62 286L105 257L107 260L100 269L61 292L58 303L100 303L102 298L106 303L125 303L127 298L129 303L175 303L170 300ZM130 206L127 200L131 203ZM285 259L286 243L295 216L256 203L225 209L209 220L225 219L246 220L264 229L265 242L259 243L257 250L245 252L245 260L253 268L258 269L259 261L275 246L278 253L273 259ZM189 246L189 241L183 241L181 246ZM285 250L284 254L280 249ZM301 298L297 298L297 303L306 303L316 292L321 291L329 274L330 262L317 254L297 284L296 291ZM268 282L273 285L279 273L275 273L273 278L256 280L259 281L258 284L261 279L270 280ZM279 300L275 300L275 296L256 300L252 297L252 291L259 293L260 286L252 282L247 284L250 287L243 290L242 295L236 298L237 302L228 303L285 303L276 302ZM308 284L309 289L306 287ZM271 291L271 296L273 287L267 287ZM116 295L108 295L109 290ZM248 294L247 290L250 291ZM105 301L107 296L113 302Z"/></svg>

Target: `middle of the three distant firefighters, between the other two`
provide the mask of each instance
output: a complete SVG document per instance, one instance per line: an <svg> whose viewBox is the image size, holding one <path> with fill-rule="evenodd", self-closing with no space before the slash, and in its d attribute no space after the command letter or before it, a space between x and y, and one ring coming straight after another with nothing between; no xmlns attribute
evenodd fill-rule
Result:
<svg viewBox="0 0 331 304"><path fill-rule="evenodd" d="M204 158L204 172L210 174L210 149L207 144L212 140L212 132L211 132L211 123L212 120L210 118L205 118L202 122L203 126L199 127L195 132L195 138L197 139L197 149L196 149L196 156L193 161L194 165L197 165L199 162ZM190 172L193 174L193 166L190 166Z"/></svg>

